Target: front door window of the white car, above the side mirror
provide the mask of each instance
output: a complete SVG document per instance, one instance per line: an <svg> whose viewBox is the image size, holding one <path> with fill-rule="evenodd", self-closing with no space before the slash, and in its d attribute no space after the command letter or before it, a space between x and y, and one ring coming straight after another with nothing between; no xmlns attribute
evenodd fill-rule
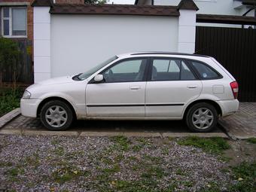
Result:
<svg viewBox="0 0 256 192"><path fill-rule="evenodd" d="M147 59L118 62L102 73L105 83L143 81Z"/></svg>

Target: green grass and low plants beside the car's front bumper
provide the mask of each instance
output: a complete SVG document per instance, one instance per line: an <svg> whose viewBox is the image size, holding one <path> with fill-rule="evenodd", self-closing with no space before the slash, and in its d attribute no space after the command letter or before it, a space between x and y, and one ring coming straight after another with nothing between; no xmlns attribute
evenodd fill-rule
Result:
<svg viewBox="0 0 256 192"><path fill-rule="evenodd" d="M20 98L23 90L13 90L11 88L0 88L0 117L14 108L20 107Z"/></svg>

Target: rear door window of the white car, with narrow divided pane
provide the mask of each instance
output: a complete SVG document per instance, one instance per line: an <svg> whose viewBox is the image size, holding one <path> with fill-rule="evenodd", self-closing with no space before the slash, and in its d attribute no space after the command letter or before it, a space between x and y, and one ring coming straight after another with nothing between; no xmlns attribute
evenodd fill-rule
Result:
<svg viewBox="0 0 256 192"><path fill-rule="evenodd" d="M180 59L153 59L151 81L194 80L194 74Z"/></svg>

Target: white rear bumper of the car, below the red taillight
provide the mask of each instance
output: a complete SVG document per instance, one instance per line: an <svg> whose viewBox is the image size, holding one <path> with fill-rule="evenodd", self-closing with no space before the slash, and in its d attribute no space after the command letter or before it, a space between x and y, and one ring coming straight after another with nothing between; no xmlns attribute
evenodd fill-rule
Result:
<svg viewBox="0 0 256 192"><path fill-rule="evenodd" d="M217 101L217 103L221 107L222 117L236 113L239 108L239 101L237 99L221 100Z"/></svg>

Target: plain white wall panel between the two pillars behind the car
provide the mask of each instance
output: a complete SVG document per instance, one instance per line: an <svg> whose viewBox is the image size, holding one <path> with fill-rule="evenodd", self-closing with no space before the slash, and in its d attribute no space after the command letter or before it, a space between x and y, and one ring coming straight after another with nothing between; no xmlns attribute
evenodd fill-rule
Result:
<svg viewBox="0 0 256 192"><path fill-rule="evenodd" d="M84 72L119 53L178 51L178 17L51 15L51 77Z"/></svg>

